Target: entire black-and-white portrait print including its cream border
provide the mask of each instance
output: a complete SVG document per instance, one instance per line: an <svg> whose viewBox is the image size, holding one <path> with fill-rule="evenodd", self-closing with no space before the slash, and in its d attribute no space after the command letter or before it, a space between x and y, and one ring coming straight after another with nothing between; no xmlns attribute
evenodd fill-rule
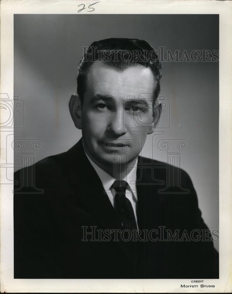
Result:
<svg viewBox="0 0 232 294"><path fill-rule="evenodd" d="M161 279L179 292L230 292L220 11L128 13L137 1L108 1L101 13L105 1L71 2L67 13L54 4L11 15L13 88L1 88L11 279L32 292L102 279L121 281L119 292L136 281L165 292Z"/></svg>

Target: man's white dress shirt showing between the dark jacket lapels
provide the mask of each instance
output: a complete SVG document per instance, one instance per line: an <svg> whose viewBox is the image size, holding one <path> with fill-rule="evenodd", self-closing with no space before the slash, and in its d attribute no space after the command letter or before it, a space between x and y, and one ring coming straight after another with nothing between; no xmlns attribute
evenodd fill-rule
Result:
<svg viewBox="0 0 232 294"><path fill-rule="evenodd" d="M113 178L107 172L103 171L102 168L97 166L96 163L94 163L89 158L89 156L87 155L86 152L85 152L85 154L86 154L88 160L90 161L91 165L95 169L97 175L99 176L99 178L102 182L102 186L105 190L105 193L109 197L112 206L115 208L115 206L116 206L116 203L115 203L116 191L115 191L115 189L110 190L110 187L115 182L115 178ZM126 189L125 196L130 200L130 202L132 204L132 208L135 213L135 220L136 220L136 224L137 224L137 228L138 228L137 213L136 213L136 209L137 209L137 190L136 190L137 162L138 162L138 159L136 160L135 166L133 168L131 168L130 172L127 174L127 176L123 180L128 183L128 188Z"/></svg>

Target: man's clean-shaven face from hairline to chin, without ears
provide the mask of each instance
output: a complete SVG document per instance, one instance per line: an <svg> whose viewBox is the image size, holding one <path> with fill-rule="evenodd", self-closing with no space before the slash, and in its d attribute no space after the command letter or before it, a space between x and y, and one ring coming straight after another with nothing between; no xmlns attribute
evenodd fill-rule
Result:
<svg viewBox="0 0 232 294"><path fill-rule="evenodd" d="M102 62L91 66L81 128L85 149L98 166L111 166L115 152L126 153L128 163L137 158L148 133L144 126L153 121L154 87L152 71L142 65L125 70Z"/></svg>

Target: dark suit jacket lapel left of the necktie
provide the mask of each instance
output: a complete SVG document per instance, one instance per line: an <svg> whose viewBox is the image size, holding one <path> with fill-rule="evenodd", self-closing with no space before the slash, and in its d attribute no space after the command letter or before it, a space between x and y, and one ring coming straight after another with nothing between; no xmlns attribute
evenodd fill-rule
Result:
<svg viewBox="0 0 232 294"><path fill-rule="evenodd" d="M82 140L73 146L66 155L68 160L64 162L65 170L68 171L70 185L74 191L71 204L78 207L81 203L85 211L88 211L97 220L93 225L100 223L101 229L122 230L120 219L105 193L101 180L85 155ZM115 244L120 246L134 264L135 258L128 247L128 242L119 240Z"/></svg>

